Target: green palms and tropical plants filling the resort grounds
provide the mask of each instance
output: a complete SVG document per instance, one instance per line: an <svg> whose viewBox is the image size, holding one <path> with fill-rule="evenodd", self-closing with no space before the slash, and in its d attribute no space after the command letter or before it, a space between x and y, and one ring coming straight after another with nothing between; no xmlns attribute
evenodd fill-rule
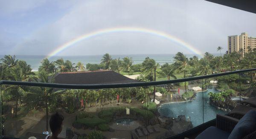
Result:
<svg viewBox="0 0 256 139"><path fill-rule="evenodd" d="M158 64L149 57L146 57L141 64L133 64L131 57L113 59L108 53L102 57L100 64L87 63L85 65L82 62L75 64L63 58L56 61L49 61L46 58L41 61L41 66L37 72L32 72L31 66L26 61L19 60L16 56L6 55L0 59L0 80L54 83L54 77L59 72L108 69L122 75L138 74L140 75L137 77L139 81L161 81L256 67L256 49L248 48L248 53L245 53L244 57L242 57L243 52L222 54L221 50L223 50L222 47L217 48L220 56L214 56L206 52L203 58L198 58L197 56L188 58L185 54L178 52L174 56L173 63L163 65ZM217 77L215 80L218 80L218 89L223 92L209 95L214 101L224 101L239 89L246 90L251 86L255 86L255 80L253 79L255 77L253 75L255 75L255 72L244 73L242 77L236 74ZM239 87L239 81L242 82L241 87ZM250 82L249 84L248 81ZM177 84L184 89L182 97L186 99L194 95L189 90L188 84L189 82ZM204 88L207 88L208 85L208 80L205 79ZM116 103L117 95L119 95L119 102L143 102L144 104L141 104L140 108L131 107L131 113L140 115L140 117L143 117L142 119L147 119L152 117L156 111L157 106L155 103L150 103L151 99L153 99L153 102L155 101L156 92L167 94L169 90L161 86L89 90L2 85L0 86L0 92L2 115L5 112L10 113L11 109L13 109L11 115L15 118L29 111L43 109L46 115L45 129L49 131L47 122L49 113L56 111L58 108L64 109L67 113L74 113L81 108L103 107L104 105ZM83 104L81 104L81 100ZM14 103L14 106L11 106L12 108L8 108L9 102ZM124 113L125 109L112 108L107 111L103 110L96 116L79 113L75 123L85 123L89 127L97 125L102 131L106 131L108 130L108 125L106 124L112 121L111 117L117 112ZM2 117L2 120L6 119Z"/></svg>

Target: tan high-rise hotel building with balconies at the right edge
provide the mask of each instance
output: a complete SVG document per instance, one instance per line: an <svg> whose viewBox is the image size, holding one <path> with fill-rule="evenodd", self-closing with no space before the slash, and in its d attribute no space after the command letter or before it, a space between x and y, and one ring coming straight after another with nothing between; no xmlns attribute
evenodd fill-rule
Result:
<svg viewBox="0 0 256 139"><path fill-rule="evenodd" d="M233 35L227 37L227 51L232 53L233 51L240 52L241 49L244 53L247 53L247 48L256 48L256 38L248 37L247 33L241 33L241 35ZM242 53L244 55L244 53Z"/></svg>

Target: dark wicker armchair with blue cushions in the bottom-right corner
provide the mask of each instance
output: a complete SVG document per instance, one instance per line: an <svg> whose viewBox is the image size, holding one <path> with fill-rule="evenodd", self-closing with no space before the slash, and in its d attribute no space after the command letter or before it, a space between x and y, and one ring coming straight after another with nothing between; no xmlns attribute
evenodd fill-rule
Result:
<svg viewBox="0 0 256 139"><path fill-rule="evenodd" d="M256 111L251 110L240 120L225 115L216 115L216 127L211 126L195 139L243 139L256 138ZM253 136L253 137L252 137Z"/></svg>

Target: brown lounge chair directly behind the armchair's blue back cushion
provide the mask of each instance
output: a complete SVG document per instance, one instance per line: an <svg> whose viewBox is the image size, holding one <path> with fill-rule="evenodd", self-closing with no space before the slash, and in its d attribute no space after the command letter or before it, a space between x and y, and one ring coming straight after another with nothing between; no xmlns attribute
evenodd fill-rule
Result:
<svg viewBox="0 0 256 139"><path fill-rule="evenodd" d="M250 110L256 110L256 108L253 108L251 106L238 105L235 108L233 108L233 110L230 111L228 115L230 117L241 119L241 117L243 117Z"/></svg>

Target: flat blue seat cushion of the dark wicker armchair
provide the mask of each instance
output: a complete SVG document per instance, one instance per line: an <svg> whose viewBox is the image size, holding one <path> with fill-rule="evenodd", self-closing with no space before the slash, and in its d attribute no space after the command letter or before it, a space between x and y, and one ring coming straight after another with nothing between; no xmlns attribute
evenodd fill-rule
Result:
<svg viewBox="0 0 256 139"><path fill-rule="evenodd" d="M227 139L230 133L223 131L215 126L210 126L202 133L200 133L195 139Z"/></svg>

